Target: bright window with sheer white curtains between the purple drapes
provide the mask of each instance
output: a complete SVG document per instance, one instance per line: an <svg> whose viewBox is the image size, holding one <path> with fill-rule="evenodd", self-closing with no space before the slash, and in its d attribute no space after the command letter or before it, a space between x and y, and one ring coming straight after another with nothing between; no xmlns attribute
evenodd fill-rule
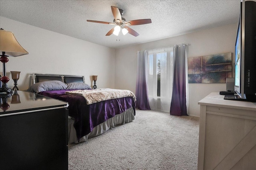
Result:
<svg viewBox="0 0 256 170"><path fill-rule="evenodd" d="M148 51L148 97L151 109L170 111L173 47Z"/></svg>

